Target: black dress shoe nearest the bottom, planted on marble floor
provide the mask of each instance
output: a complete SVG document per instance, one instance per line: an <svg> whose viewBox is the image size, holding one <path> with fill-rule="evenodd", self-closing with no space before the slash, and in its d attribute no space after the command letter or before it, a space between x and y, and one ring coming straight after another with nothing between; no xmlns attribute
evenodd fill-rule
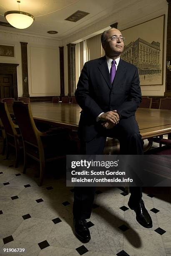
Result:
<svg viewBox="0 0 171 256"><path fill-rule="evenodd" d="M88 229L86 220L75 219L73 220L75 236L82 242L88 243L90 241L90 231Z"/></svg>

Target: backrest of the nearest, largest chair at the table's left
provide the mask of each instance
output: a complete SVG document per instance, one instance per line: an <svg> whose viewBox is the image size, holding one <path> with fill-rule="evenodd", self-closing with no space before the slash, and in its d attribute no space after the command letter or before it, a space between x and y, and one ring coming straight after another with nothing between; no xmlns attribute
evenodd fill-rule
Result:
<svg viewBox="0 0 171 256"><path fill-rule="evenodd" d="M30 103L14 101L13 110L24 144L27 143L38 147L40 136L38 135L39 131L35 126Z"/></svg>

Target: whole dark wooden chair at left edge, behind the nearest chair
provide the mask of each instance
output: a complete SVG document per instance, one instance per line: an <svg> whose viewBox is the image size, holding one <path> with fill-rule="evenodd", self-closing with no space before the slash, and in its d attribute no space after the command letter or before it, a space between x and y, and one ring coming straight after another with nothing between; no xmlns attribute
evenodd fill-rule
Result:
<svg viewBox="0 0 171 256"><path fill-rule="evenodd" d="M6 148L7 148L7 156L8 159L10 150L9 147L12 146L15 148L16 158L15 158L15 168L18 167L18 160L20 151L23 150L23 141L20 134L20 129L18 125L15 125L10 117L10 113L7 108L6 102L0 102L0 119L3 123L3 127L5 129L6 135Z"/></svg>

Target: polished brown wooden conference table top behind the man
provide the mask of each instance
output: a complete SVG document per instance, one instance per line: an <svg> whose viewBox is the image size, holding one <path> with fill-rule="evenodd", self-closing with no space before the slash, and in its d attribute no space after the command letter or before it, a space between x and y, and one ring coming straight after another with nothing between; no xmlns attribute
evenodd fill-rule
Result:
<svg viewBox="0 0 171 256"><path fill-rule="evenodd" d="M77 104L34 102L31 108L36 120L78 129L81 108ZM138 108L136 120L143 139L171 132L171 110Z"/></svg>

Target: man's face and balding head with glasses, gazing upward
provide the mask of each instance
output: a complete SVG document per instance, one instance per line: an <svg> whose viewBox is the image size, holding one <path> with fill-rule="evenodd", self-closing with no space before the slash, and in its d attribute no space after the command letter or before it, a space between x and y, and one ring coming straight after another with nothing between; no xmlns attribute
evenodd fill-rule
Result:
<svg viewBox="0 0 171 256"><path fill-rule="evenodd" d="M111 40L112 36L117 36L117 40ZM120 56L123 51L124 43L119 38L122 36L121 31L116 28L113 28L106 33L106 41L103 42L102 46L107 56Z"/></svg>

